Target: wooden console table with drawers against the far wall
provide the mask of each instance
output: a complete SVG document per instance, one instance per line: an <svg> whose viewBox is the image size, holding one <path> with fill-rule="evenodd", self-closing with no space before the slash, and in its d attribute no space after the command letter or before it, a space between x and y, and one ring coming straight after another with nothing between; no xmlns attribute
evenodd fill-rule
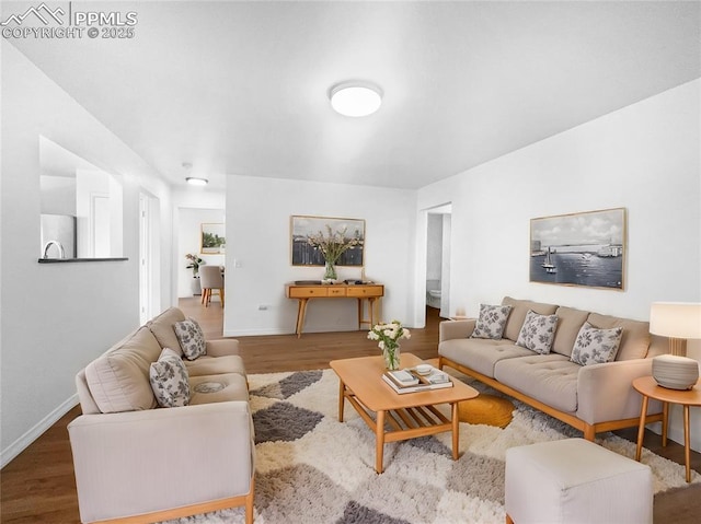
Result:
<svg viewBox="0 0 701 524"><path fill-rule="evenodd" d="M295 333L297 338L302 336L304 326L304 315L307 314L307 303L310 299L357 299L358 301L358 329L361 324L375 325L375 306L377 300L384 295L384 286L381 283L287 283L285 294L288 299L297 299L297 327ZM368 302L368 319L363 318L363 303Z"/></svg>

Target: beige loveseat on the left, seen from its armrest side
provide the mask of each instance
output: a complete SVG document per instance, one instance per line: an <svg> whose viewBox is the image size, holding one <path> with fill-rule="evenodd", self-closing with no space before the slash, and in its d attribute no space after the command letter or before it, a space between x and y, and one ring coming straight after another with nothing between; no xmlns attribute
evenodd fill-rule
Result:
<svg viewBox="0 0 701 524"><path fill-rule="evenodd" d="M68 431L81 522L157 522L244 505L253 522L254 436L238 341L182 358L189 403L158 407L149 380L163 348L182 354L172 307L81 370ZM127 521L125 521L127 522Z"/></svg>

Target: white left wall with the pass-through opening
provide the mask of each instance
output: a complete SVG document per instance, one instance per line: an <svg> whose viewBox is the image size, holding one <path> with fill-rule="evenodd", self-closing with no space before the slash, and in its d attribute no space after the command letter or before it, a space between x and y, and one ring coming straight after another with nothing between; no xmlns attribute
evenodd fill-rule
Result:
<svg viewBox="0 0 701 524"><path fill-rule="evenodd" d="M139 322L138 195L170 209L152 170L7 42L2 59L2 465L76 404L76 373ZM120 176L127 261L38 264L39 135ZM168 222L162 222L170 233ZM160 238L170 253L170 235ZM170 279L170 267L163 266ZM169 288L162 290L171 302Z"/></svg>

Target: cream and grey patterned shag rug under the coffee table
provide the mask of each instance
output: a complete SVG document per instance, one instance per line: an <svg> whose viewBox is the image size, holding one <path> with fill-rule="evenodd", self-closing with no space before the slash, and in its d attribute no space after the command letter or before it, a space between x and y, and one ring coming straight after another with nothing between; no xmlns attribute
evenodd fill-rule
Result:
<svg viewBox="0 0 701 524"><path fill-rule="evenodd" d="M460 458L450 433L384 445L375 471L375 435L346 403L338 422L338 379L332 370L249 375L255 426L256 524L503 524L508 447L581 436L568 426L515 401L504 429L460 423ZM471 385L495 392L479 382ZM633 457L635 444L612 433L597 443ZM686 487L685 468L643 450L655 492ZM701 476L693 473L693 482ZM243 523L243 509L170 521Z"/></svg>

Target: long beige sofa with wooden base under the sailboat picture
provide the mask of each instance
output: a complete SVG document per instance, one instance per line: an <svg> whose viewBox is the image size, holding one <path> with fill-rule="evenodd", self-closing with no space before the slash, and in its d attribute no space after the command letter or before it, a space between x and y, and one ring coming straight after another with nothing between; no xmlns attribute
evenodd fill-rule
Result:
<svg viewBox="0 0 701 524"><path fill-rule="evenodd" d="M450 366L521 400L584 432L635 427L642 397L634 379L652 374L652 357L665 352L666 342L651 336L648 323L600 315L573 307L506 296L512 306L501 339L471 338L476 319L446 321L439 329L439 366ZM528 311L556 315L551 351L539 354L517 346ZM571 361L585 322L601 329L622 327L612 362L581 365ZM662 420L662 405L650 403L648 421Z"/></svg>

